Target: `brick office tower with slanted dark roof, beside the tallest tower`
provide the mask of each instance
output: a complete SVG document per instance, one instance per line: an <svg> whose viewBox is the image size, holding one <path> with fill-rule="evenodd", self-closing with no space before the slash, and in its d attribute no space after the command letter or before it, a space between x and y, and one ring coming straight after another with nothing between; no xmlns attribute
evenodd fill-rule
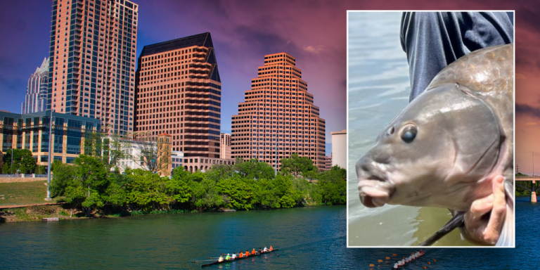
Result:
<svg viewBox="0 0 540 270"><path fill-rule="evenodd" d="M171 134L184 160L219 158L221 79L210 33L144 46L138 65L136 133Z"/></svg>

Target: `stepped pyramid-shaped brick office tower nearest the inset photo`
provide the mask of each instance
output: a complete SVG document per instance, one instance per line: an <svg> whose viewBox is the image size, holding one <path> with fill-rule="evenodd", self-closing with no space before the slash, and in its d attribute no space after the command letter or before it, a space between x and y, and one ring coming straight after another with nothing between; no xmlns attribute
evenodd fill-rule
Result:
<svg viewBox="0 0 540 270"><path fill-rule="evenodd" d="M281 158L297 153L324 170L325 121L295 58L287 53L264 56L258 75L232 117L232 157L258 158L274 167L277 156L279 167Z"/></svg>

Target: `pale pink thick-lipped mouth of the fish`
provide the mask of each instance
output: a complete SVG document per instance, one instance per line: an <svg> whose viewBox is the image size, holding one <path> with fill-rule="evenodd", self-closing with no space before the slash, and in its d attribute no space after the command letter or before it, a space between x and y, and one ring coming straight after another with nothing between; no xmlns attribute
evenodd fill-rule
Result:
<svg viewBox="0 0 540 270"><path fill-rule="evenodd" d="M366 207L381 207L392 197L394 186L390 181L378 176L359 177L358 193L362 204Z"/></svg>

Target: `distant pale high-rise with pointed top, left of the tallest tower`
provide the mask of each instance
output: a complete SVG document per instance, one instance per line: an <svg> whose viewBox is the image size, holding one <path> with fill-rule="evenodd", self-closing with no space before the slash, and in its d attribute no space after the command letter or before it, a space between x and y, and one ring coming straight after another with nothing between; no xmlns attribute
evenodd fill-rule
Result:
<svg viewBox="0 0 540 270"><path fill-rule="evenodd" d="M20 106L20 113L37 113L46 110L49 86L49 58L44 58L39 68L28 79L25 102Z"/></svg>

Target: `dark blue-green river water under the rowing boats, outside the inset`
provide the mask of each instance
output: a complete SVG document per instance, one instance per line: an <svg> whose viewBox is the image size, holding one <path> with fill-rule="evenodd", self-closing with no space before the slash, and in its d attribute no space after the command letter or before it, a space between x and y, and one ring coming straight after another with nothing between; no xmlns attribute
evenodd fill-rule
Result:
<svg viewBox="0 0 540 270"><path fill-rule="evenodd" d="M515 208L515 249L428 248L405 269L539 269L540 204L519 197ZM375 270L390 266L378 259L414 251L345 248L345 229L344 206L6 223L0 224L0 269L200 269L202 262L191 261L273 245L280 250L268 259L207 269Z"/></svg>

